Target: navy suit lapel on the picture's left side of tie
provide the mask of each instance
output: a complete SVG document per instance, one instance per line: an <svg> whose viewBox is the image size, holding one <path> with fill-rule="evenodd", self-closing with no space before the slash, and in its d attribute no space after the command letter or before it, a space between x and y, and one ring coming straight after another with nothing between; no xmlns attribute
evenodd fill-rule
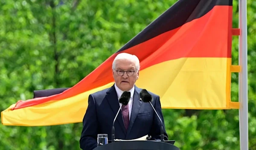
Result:
<svg viewBox="0 0 256 150"><path fill-rule="evenodd" d="M115 90L114 86L112 86L108 90L106 98L108 99L108 103L109 103L111 109L113 110L113 115L115 117L116 113L118 112L118 110L120 108L120 105L119 105L119 102L118 102L118 98L117 98L117 94L116 94L116 90ZM119 125L122 128L122 131L126 134L125 125L124 125L124 122L123 122L123 119L122 119L122 111L121 110L119 111L119 113L116 117L116 121L119 122ZM116 125L116 122L115 122L115 125Z"/></svg>

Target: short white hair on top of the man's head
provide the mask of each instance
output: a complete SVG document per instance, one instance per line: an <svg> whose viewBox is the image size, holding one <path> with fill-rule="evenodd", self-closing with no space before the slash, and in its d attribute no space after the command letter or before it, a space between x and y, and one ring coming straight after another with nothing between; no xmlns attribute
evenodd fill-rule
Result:
<svg viewBox="0 0 256 150"><path fill-rule="evenodd" d="M136 55L128 54L128 53L120 53L116 55L116 58L113 60L112 63L112 69L116 68L116 60L118 59L126 59L126 60L131 60L135 63L137 71L140 70L140 60Z"/></svg>

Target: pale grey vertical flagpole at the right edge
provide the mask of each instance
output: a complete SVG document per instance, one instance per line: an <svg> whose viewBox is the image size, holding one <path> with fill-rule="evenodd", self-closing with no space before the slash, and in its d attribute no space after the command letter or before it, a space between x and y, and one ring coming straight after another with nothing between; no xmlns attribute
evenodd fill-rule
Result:
<svg viewBox="0 0 256 150"><path fill-rule="evenodd" d="M240 150L248 148L248 85L247 85L247 0L239 0L239 128Z"/></svg>

